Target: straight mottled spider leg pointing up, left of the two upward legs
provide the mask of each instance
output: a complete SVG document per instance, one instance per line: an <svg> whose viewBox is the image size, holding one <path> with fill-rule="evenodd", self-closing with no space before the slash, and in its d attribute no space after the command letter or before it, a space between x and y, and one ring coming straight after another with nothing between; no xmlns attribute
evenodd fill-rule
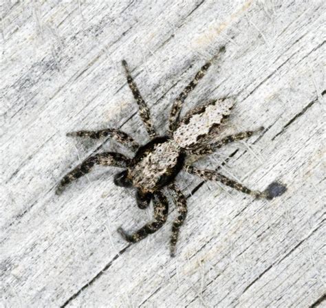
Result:
<svg viewBox="0 0 326 308"><path fill-rule="evenodd" d="M122 65L124 67L124 70L127 75L127 82L129 85L129 88L131 89L131 92L133 93L133 97L135 98L138 107L139 107L139 113L140 113L140 118L142 118L142 122L144 123L145 129L147 133L149 133L149 137L155 137L155 129L153 127L153 123L151 121L151 113L149 111L149 107L147 106L146 102L142 98L140 91L135 84L135 81L131 77L131 74L129 72L129 68L127 65L127 61L122 60Z"/></svg>

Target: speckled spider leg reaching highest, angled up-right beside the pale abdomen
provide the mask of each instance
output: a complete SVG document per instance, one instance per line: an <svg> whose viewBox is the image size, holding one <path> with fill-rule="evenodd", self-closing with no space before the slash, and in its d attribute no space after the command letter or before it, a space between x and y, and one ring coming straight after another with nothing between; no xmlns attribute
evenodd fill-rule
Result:
<svg viewBox="0 0 326 308"><path fill-rule="evenodd" d="M223 53L225 51L225 47L221 47L219 50L219 54ZM170 118L169 118L169 133L173 133L175 129L177 128L177 124L180 119L180 113L182 109L182 104L184 103L184 100L186 100L188 94L195 89L197 83L199 80L201 80L208 68L210 67L211 62L207 62L204 64L201 69L197 72L195 75L195 78L191 80L191 82L184 88L184 90L180 93L180 95L177 97L177 99L173 102L171 113L170 113Z"/></svg>

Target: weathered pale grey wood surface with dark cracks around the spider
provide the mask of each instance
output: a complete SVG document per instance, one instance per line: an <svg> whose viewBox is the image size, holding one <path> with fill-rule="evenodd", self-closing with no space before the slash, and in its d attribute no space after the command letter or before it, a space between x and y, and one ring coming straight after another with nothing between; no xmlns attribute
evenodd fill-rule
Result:
<svg viewBox="0 0 326 308"><path fill-rule="evenodd" d="M325 307L325 1L4 1L1 5L1 307ZM177 256L171 215L137 245L151 210L96 168L58 180L105 140L65 137L121 127L148 140L120 65L155 126L221 45L226 54L186 101L235 96L228 131L265 126L199 163L264 189L255 201L206 183L188 198ZM180 175L185 194L201 183Z"/></svg>

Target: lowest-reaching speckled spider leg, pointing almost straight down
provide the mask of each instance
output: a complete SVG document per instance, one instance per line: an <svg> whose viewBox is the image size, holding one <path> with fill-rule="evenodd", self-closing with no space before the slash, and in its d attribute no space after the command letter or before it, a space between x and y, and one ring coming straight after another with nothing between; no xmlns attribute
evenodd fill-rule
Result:
<svg viewBox="0 0 326 308"><path fill-rule="evenodd" d="M175 205L177 206L177 218L175 221L173 221L170 241L170 254L171 256L175 256L175 246L179 237L179 230L184 223L184 219L186 219L188 210L186 198L184 197L184 194L181 192L181 190L175 186L175 184L171 184L169 188L173 191Z"/></svg>

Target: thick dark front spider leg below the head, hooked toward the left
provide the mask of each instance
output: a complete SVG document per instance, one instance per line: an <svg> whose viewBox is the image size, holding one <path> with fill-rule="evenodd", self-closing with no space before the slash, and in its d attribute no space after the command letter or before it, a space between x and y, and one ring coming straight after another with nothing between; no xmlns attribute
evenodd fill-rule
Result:
<svg viewBox="0 0 326 308"><path fill-rule="evenodd" d="M144 239L147 235L152 234L159 230L164 225L166 218L168 217L169 203L166 197L160 191L153 193L154 204L154 220L150 223L146 223L138 231L128 234L121 227L118 228L118 232L122 237L131 243L136 243Z"/></svg>

